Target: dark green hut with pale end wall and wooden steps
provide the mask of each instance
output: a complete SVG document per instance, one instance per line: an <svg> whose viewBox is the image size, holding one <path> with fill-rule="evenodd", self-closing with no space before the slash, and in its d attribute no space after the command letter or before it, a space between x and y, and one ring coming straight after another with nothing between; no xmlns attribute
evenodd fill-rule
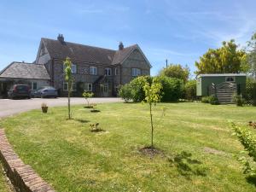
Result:
<svg viewBox="0 0 256 192"><path fill-rule="evenodd" d="M247 75L242 73L200 74L196 78L196 96L218 97L219 102L232 102L232 95L243 94Z"/></svg>

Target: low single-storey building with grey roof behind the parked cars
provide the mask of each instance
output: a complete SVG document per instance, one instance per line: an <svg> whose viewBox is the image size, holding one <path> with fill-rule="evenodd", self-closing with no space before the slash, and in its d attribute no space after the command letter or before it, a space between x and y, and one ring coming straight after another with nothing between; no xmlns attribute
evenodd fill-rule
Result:
<svg viewBox="0 0 256 192"><path fill-rule="evenodd" d="M44 65L15 61L0 72L0 98L7 97L13 84L29 84L32 90L37 90L49 82L49 73Z"/></svg>

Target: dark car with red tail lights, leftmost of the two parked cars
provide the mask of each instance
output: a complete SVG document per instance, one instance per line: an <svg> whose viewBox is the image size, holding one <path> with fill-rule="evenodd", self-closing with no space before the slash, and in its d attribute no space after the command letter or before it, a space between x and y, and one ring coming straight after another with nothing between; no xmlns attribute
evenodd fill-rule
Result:
<svg viewBox="0 0 256 192"><path fill-rule="evenodd" d="M9 91L10 99L14 98L31 98L31 89L27 84L15 84Z"/></svg>

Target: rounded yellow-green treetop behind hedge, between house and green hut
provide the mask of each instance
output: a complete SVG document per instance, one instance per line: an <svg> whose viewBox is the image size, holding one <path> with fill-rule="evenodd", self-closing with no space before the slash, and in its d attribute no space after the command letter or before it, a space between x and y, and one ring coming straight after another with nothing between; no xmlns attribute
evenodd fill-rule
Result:
<svg viewBox="0 0 256 192"><path fill-rule="evenodd" d="M186 83L189 79L189 67L183 67L180 64L170 64L168 67L160 71L160 75L164 75L169 78L182 79L183 83Z"/></svg>

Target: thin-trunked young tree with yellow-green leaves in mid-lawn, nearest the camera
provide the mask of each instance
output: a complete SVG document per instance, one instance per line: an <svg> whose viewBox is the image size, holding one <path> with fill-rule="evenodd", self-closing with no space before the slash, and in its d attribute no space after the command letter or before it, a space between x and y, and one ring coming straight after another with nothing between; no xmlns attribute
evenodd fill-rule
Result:
<svg viewBox="0 0 256 192"><path fill-rule="evenodd" d="M145 91L145 100L149 104L149 112L150 112L150 123L151 123L151 148L153 148L153 136L154 136L154 126L153 126L153 117L152 117L152 104L154 105L157 102L160 102L161 96L160 91L162 89L162 85L157 81L157 79L153 79L152 84L148 84L148 82L144 85L143 90Z"/></svg>

